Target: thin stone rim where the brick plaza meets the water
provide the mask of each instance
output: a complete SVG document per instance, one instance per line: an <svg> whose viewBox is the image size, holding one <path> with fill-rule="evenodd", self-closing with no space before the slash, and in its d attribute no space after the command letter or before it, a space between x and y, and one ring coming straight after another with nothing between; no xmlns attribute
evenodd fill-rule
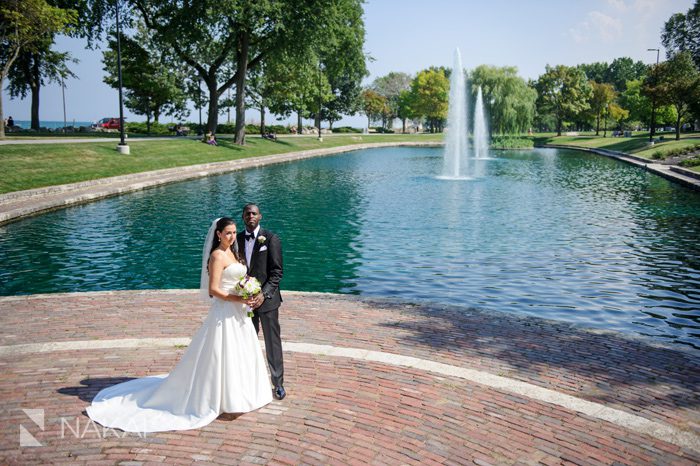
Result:
<svg viewBox="0 0 700 466"><path fill-rule="evenodd" d="M61 298L63 296L85 296L85 297L99 297L99 296L113 296L119 294L171 294L171 295L186 295L186 294L196 294L197 289L188 288L170 288L170 289L147 289L147 290L110 290L110 291L75 291L68 293L37 293L37 294L25 294L25 295L14 295L14 296L0 296L0 305L4 303L12 303L16 301L27 301L33 299L55 299ZM430 306L436 310L460 310L463 313L478 314L480 316L486 316L488 318L493 318L494 311L489 311L487 309L482 309L479 307L470 306L460 306L454 304L436 304L433 302L428 303L427 300L421 300L418 298L404 299L399 297L384 297L384 296L362 296L355 294L341 294L341 293L325 293L318 291L294 291L294 290L282 290L285 295L291 295L296 297L303 296L314 296L329 300L339 300L339 301L355 301L362 302L366 304L377 303L390 306L425 306L430 304ZM632 343L640 343L653 348L665 349L669 351L681 352L688 356L697 357L698 350L691 348L682 344L672 344L659 341L649 336L641 334L633 334L620 332L616 330L607 330L603 328L589 327L585 324L580 324L576 322L566 322L563 320L548 319L545 317L537 317L530 315L517 314L510 311L497 311L499 313L504 313L508 315L509 319L513 319L519 322L527 322L531 320L537 320L538 322L543 322L548 325L564 326L571 329L575 329L580 332L589 333L591 335L610 335L616 338L620 338Z"/></svg>

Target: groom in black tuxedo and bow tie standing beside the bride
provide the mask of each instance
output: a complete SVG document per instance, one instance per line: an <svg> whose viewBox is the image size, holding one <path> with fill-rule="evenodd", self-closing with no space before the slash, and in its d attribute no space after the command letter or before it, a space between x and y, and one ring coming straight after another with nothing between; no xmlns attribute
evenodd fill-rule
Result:
<svg viewBox="0 0 700 466"><path fill-rule="evenodd" d="M263 327L265 353L270 366L270 378L275 386L275 398L287 396L284 391L284 365L282 363L282 340L280 338L279 307L282 303L280 280L282 280L282 244L279 237L260 228L262 214L255 204L243 207L245 231L238 233L238 250L245 253L248 275L260 282L262 292L255 295L252 307L253 325L260 332Z"/></svg>

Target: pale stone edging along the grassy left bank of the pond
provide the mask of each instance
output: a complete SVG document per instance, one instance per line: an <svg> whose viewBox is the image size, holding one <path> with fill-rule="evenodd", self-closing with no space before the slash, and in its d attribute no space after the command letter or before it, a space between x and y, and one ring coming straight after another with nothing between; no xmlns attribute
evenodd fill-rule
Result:
<svg viewBox="0 0 700 466"><path fill-rule="evenodd" d="M0 195L0 225L20 218L36 215L50 210L82 204L110 196L126 194L155 186L179 181L220 175L246 168L256 168L276 163L291 162L306 158L334 155L355 150L379 147L438 147L441 142L375 142L323 149L311 149L282 154L262 155L223 162L211 162L199 165L166 168L141 173L99 178L64 185L14 191ZM100 189L101 188L101 189ZM16 205L12 205L16 204ZM26 204L26 205L22 205Z"/></svg>

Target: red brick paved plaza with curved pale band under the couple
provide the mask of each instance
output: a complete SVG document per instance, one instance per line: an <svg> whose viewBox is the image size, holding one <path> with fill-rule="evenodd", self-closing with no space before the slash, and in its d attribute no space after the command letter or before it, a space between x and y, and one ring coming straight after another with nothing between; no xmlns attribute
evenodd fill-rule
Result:
<svg viewBox="0 0 700 466"><path fill-rule="evenodd" d="M281 312L285 400L144 438L89 422L101 388L167 372L205 314L191 290L0 298L0 463L700 462L697 352L309 293L287 293ZM21 429L41 446L20 447Z"/></svg>

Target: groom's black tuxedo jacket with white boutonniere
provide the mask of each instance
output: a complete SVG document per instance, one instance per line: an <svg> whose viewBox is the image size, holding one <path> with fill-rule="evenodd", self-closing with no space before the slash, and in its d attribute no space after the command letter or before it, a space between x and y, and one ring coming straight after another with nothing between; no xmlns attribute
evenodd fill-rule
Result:
<svg viewBox="0 0 700 466"><path fill-rule="evenodd" d="M259 241L261 237L265 241ZM236 235L238 252L245 259L245 229ZM255 277L262 286L265 301L257 309L258 312L272 311L280 307L280 281L282 281L282 243L279 237L269 230L260 228L255 238L253 254L250 256L248 275Z"/></svg>

